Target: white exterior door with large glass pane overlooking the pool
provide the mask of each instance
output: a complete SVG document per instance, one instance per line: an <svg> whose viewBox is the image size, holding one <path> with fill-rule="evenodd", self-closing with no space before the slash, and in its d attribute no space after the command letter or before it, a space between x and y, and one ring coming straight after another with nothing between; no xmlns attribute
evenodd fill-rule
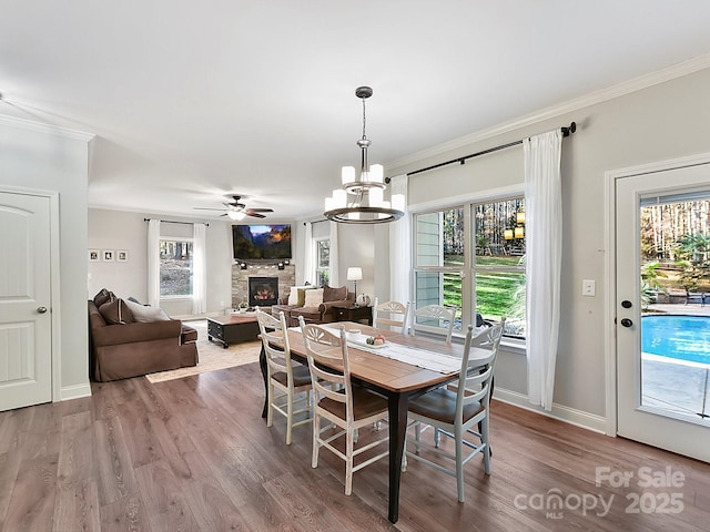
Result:
<svg viewBox="0 0 710 532"><path fill-rule="evenodd" d="M616 180L617 423L619 436L710 461L710 422L701 416L702 397L698 405L686 409L670 407L674 398L687 393L691 379L698 380L698 374L697 386L702 392L706 379L707 391L703 377L707 368L703 370L702 365L679 359L659 359L657 361L665 366L656 369L655 376L649 375L652 371L648 360L652 357L642 354L641 346L641 206L651 198L657 203L671 203L704 197L704 193L710 197L710 164ZM666 310L669 314L691 311L681 301L669 305ZM710 316L707 319L710 320ZM665 337L666 331L660 336ZM706 350L710 351L710 344ZM659 393L665 401L653 400Z"/></svg>

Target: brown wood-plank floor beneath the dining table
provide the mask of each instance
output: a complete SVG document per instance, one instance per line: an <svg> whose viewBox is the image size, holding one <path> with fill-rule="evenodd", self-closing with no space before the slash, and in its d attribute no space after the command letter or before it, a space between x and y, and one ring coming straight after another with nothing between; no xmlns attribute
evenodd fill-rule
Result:
<svg viewBox="0 0 710 532"><path fill-rule="evenodd" d="M255 364L92 388L0 413L0 530L655 532L710 522L710 464L499 402L493 474L471 460L459 504L454 478L410 460L393 525L387 462L355 473L345 497L339 459L324 451L311 468L307 426L290 447L283 418L266 428ZM600 485L597 468L608 473ZM623 473L628 487L615 485ZM676 485L643 488L649 475Z"/></svg>

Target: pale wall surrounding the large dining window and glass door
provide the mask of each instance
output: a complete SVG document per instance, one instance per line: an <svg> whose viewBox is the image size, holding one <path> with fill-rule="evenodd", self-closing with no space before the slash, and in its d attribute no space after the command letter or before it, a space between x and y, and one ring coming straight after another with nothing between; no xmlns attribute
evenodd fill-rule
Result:
<svg viewBox="0 0 710 532"><path fill-rule="evenodd" d="M575 111L549 113L547 116L555 116L527 121L525 126L483 141L458 143L455 150L437 155L430 155L436 153L433 149L427 156L417 160L413 155L406 164L387 168L387 175L412 172L577 122L577 133L562 143L562 318L554 410L560 417L577 417L579 421L587 416L588 424L604 428L607 308L602 298L607 283L604 174L609 170L710 152L708 94L710 70L703 70L601 103L578 105ZM443 206L456 198L476 197L490 188L519 186L521 152L519 146L511 147L470 158L465 165L454 164L412 176L409 201L414 208ZM378 232L378 254L386 252L384 234ZM376 263L379 264L379 259ZM581 279L597 279L597 297L581 296ZM383 276L378 276L377 286L387 289ZM527 393L524 356L501 355L496 388L520 398Z"/></svg>

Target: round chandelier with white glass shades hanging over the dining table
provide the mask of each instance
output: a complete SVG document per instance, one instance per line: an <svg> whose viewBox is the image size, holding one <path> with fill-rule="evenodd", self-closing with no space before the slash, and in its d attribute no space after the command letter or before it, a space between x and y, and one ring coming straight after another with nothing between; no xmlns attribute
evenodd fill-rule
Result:
<svg viewBox="0 0 710 532"><path fill-rule="evenodd" d="M363 101L363 137L357 141L361 149L359 176L354 166L343 166L342 187L325 198L326 218L345 224L381 224L394 222L404 215L404 195L393 194L392 202L384 200L384 171L381 164L367 162L367 149L372 142L365 135L365 100L373 95L369 86L358 86L355 95Z"/></svg>

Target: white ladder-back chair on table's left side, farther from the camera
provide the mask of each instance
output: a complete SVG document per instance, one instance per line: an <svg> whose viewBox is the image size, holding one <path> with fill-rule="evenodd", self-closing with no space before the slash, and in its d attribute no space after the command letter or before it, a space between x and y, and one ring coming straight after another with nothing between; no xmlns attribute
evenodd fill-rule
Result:
<svg viewBox="0 0 710 532"><path fill-rule="evenodd" d="M276 319L257 308L256 319L268 375L266 427L272 427L274 411L283 415L286 418L286 444L290 446L293 428L311 423L311 374L307 366L291 360L284 313L278 313ZM274 347L273 342L283 345L283 349ZM295 417L302 413L307 416L295 421Z"/></svg>

